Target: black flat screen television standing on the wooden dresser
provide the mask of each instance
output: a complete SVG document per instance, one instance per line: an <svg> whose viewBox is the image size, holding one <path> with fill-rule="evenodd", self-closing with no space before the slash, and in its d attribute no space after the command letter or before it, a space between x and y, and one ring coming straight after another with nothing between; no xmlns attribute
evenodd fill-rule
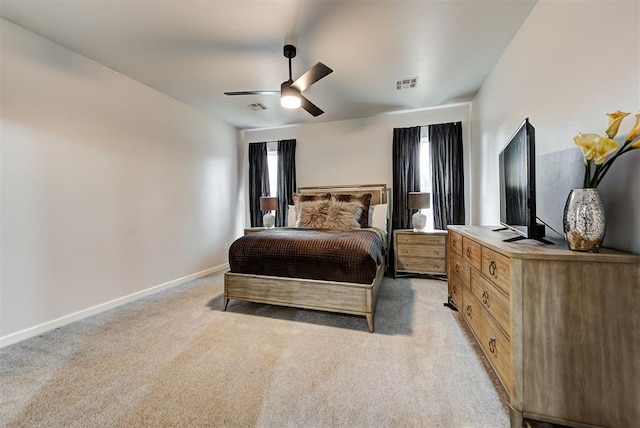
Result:
<svg viewBox="0 0 640 428"><path fill-rule="evenodd" d="M536 148L535 128L525 119L499 156L500 224L518 234L515 238L544 238L544 225L536 217Z"/></svg>

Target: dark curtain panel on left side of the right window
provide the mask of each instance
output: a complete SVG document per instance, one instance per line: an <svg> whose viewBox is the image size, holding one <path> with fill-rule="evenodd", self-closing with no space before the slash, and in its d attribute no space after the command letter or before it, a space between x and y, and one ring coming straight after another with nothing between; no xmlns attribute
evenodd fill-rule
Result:
<svg viewBox="0 0 640 428"><path fill-rule="evenodd" d="M420 191L420 127L393 129L393 213L391 228L411 229L409 192Z"/></svg>

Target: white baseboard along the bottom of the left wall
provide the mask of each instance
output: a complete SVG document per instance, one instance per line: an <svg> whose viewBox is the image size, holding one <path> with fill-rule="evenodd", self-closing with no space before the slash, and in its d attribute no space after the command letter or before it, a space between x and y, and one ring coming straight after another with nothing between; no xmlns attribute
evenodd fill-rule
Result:
<svg viewBox="0 0 640 428"><path fill-rule="evenodd" d="M90 308L83 309L81 311L74 312L72 314L65 315L63 317L44 322L42 324L38 324L33 327L29 327L24 330L17 331L15 333L8 334L6 336L2 336L0 337L0 348L12 345L14 343L28 339L30 337L38 336L40 334L54 330L58 327L62 327L63 325L70 324L74 321L78 321L83 318L87 318L92 315L98 314L100 312L104 312L106 310L124 305L125 303L129 303L134 300L140 299L142 297L146 297L151 294L157 293L159 291L166 290L167 288L175 287L176 285L184 284L185 282L188 282L188 281L191 281L215 272L220 272L222 270L227 270L227 269L229 269L228 263L222 264L220 266L214 266L212 268L205 269L203 271L196 272L191 275L183 276L182 278L165 282L164 284L155 285L145 290L137 291L127 296L119 297L109 302L101 303L99 305L92 306Z"/></svg>

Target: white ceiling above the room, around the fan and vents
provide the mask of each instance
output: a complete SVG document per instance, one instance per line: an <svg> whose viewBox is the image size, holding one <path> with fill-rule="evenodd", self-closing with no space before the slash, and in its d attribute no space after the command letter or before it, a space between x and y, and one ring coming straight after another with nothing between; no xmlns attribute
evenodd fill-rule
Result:
<svg viewBox="0 0 640 428"><path fill-rule="evenodd" d="M241 129L368 117L470 101L537 0L1 0L17 25ZM280 107L316 62L334 72ZM397 80L418 77L414 89ZM253 111L260 102L267 110Z"/></svg>

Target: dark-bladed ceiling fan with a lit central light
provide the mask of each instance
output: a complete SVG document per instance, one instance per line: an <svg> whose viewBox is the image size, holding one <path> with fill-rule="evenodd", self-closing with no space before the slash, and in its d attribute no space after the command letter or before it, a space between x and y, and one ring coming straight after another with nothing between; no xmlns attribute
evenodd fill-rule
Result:
<svg viewBox="0 0 640 428"><path fill-rule="evenodd" d="M333 73L333 70L319 62L302 76L298 77L295 82L291 78L291 59L296 56L296 47L293 45L284 46L284 56L289 58L289 80L282 82L280 91L237 91L225 92L225 95L260 95L260 94L280 94L280 104L285 108L302 107L313 116L320 116L322 111L318 106L302 96L302 92L318 80Z"/></svg>

